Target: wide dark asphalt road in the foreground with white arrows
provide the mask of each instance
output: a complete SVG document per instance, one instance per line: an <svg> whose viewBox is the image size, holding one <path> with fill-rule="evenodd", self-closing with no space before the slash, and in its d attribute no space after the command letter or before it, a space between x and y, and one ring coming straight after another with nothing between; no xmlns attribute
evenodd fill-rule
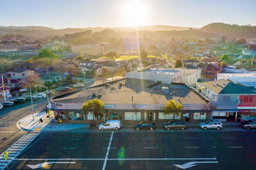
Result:
<svg viewBox="0 0 256 170"><path fill-rule="evenodd" d="M11 169L255 169L255 131L41 133Z"/></svg>

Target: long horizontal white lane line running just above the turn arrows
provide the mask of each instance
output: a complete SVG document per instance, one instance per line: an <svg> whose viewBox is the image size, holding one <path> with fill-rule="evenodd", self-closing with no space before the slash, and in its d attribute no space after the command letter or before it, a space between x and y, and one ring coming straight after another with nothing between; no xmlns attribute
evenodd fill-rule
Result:
<svg viewBox="0 0 256 170"><path fill-rule="evenodd" d="M217 158L108 158L109 161L216 160ZM15 161L104 161L106 158L15 158Z"/></svg>

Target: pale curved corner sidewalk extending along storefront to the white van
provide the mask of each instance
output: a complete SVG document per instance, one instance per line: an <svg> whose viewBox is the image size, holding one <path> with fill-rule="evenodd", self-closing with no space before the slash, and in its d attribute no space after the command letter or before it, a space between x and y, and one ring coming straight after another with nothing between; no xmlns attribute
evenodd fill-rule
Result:
<svg viewBox="0 0 256 170"><path fill-rule="evenodd" d="M35 119L33 120L33 115L29 114L26 117L23 117L17 123L17 127L21 128L23 131L70 131L79 128L90 128L90 124L59 124L54 123L53 116L54 113L51 114L51 123L49 124L49 117L43 111L38 114L34 114ZM40 118L43 119L43 123L40 123Z"/></svg>

